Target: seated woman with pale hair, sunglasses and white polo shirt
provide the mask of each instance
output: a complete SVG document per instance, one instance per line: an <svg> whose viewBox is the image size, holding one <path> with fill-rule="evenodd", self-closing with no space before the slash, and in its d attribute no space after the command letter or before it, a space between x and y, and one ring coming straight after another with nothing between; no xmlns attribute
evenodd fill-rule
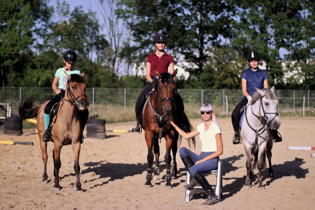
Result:
<svg viewBox="0 0 315 210"><path fill-rule="evenodd" d="M180 157L192 175L192 181L184 187L194 187L197 181L207 193L207 200L201 205L211 205L219 202L214 190L207 179L201 174L218 168L219 156L223 154L223 144L221 138L221 128L215 118L215 113L210 104L204 104L200 108L202 123L190 133L185 133L178 128L174 122L170 122L176 131L185 139L197 136L200 133L201 153L195 154L186 147L179 150Z"/></svg>

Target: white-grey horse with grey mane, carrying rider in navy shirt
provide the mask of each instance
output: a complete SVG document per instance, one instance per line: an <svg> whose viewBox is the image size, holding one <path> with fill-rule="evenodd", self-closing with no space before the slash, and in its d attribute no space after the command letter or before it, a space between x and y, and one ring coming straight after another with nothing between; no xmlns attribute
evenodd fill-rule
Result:
<svg viewBox="0 0 315 210"><path fill-rule="evenodd" d="M272 130L280 127L277 110L278 100L274 94L275 88L256 89L251 101L245 108L245 119L242 123L241 139L246 153L246 183L244 187L250 188L250 178L254 179L254 167L258 169L258 188L262 185L261 171L266 167L266 155L269 162L269 175L273 177L271 166Z"/></svg>

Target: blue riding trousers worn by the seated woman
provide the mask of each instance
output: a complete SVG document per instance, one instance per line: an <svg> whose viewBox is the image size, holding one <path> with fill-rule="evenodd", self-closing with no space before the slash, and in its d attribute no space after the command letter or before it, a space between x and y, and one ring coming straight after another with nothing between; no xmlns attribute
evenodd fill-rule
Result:
<svg viewBox="0 0 315 210"><path fill-rule="evenodd" d="M186 147L182 147L179 150L179 155L180 157L187 157L189 156L192 159L193 163L196 163L197 161L203 159L204 157L207 157L215 152L201 152L200 155L195 154L194 152L190 151ZM189 169L190 175L192 175L193 178L195 178L195 174L197 172L203 173L203 172L208 172L212 171L218 168L218 162L219 162L219 157L216 157L211 160L207 160L201 163L198 163L197 165L193 165Z"/></svg>

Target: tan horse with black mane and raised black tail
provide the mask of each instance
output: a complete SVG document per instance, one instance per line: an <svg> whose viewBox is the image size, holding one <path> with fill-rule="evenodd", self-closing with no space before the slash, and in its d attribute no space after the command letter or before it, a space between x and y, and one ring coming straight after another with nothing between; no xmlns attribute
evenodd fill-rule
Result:
<svg viewBox="0 0 315 210"><path fill-rule="evenodd" d="M65 92L64 102L60 107L55 124L52 127L51 135L54 142L53 159L54 159L54 190L60 190L59 185L59 169L60 150L63 145L72 145L74 156L74 171L77 176L77 193L83 192L80 183L80 165L79 155L81 149L82 127L78 111L84 111L89 107L89 102L85 94L85 83L82 75L72 74L68 77L67 88ZM33 118L37 116L37 130L39 136L40 147L43 153L44 173L43 182L47 181L47 142L43 142L43 133L45 132L44 124L44 107L49 101L35 107L34 97L24 99L19 106L19 114L22 119Z"/></svg>

